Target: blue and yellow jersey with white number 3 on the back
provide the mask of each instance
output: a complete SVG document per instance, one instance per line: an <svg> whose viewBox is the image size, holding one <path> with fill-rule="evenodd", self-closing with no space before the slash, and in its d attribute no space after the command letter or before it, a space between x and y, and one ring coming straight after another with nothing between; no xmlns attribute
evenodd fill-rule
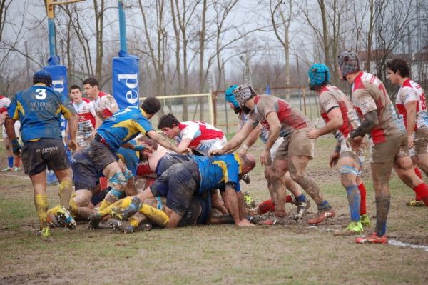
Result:
<svg viewBox="0 0 428 285"><path fill-rule="evenodd" d="M44 84L19 92L7 109L9 118L21 121L22 141L62 139L61 114L70 119L76 111L61 93Z"/></svg>

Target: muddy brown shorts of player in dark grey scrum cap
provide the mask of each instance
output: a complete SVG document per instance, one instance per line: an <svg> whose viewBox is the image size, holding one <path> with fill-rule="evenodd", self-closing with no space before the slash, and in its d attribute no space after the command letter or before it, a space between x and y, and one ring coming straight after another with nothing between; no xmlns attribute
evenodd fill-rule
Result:
<svg viewBox="0 0 428 285"><path fill-rule="evenodd" d="M395 159L403 156L409 156L407 134L402 134L395 139L381 144L372 144L370 163L382 164L394 162Z"/></svg>

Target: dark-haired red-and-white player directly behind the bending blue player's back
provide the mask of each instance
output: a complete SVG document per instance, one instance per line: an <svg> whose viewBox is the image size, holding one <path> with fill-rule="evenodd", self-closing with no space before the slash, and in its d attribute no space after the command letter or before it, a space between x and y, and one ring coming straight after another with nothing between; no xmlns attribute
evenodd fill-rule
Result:
<svg viewBox="0 0 428 285"><path fill-rule="evenodd" d="M96 112L95 129L98 129L103 121L119 110L118 104L113 96L99 89L98 80L93 77L83 80L82 85L86 96L92 100Z"/></svg>

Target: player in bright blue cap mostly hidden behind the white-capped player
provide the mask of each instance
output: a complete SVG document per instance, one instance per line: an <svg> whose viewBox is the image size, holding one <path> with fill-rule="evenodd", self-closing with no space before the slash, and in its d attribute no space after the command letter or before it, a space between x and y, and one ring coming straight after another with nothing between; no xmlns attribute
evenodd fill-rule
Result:
<svg viewBox="0 0 428 285"><path fill-rule="evenodd" d="M238 85L233 85L228 88L225 92L225 99L229 102L230 108L235 111L236 114L238 114L238 131L243 128L245 125L245 122L248 121L248 115L246 115L242 109L240 108L238 101L235 98L235 94L233 94L233 91L238 88ZM263 141L263 144L266 144L267 138L269 137L269 131L265 129L261 124L259 124L248 136L247 139L245 139L243 146L240 148L239 153L240 154L246 154L250 146L255 144L255 141L257 141L258 137L260 137L260 140ZM272 178L275 176L275 171L272 169L272 161L275 158L275 154L277 152L278 146L282 144L284 139L282 137L279 137L275 144L273 144L272 148L270 149L270 156L267 159L267 163L265 164L265 179L267 181L267 189L269 190L270 194L270 200L264 201L262 204L260 204L260 207L258 209L261 209L261 211L256 210L255 213L257 214L264 214L265 209L272 209L272 211L275 211L275 201L277 204L279 204L278 209L285 209L285 202L288 200L290 202L293 201L291 199L291 196L285 197L282 196L282 193L278 193L277 191L273 191L272 187ZM294 195L295 200L294 203L297 206L297 212L294 216L295 219L302 219L303 214L305 213L305 210L309 208L310 202L306 198L305 194L302 193L302 190L299 186L295 183L294 180L291 179L290 173L287 171L285 172L285 176L282 177L282 180L287 187L291 191L291 193ZM280 194L280 196L278 196ZM287 199L288 198L288 199ZM250 213L250 212L249 212ZM260 217L262 218L262 217ZM263 218L262 218L263 219ZM252 219L252 221L260 221L260 219ZM267 219L262 222L263 224L280 224L280 219L277 219L273 217L272 219Z"/></svg>

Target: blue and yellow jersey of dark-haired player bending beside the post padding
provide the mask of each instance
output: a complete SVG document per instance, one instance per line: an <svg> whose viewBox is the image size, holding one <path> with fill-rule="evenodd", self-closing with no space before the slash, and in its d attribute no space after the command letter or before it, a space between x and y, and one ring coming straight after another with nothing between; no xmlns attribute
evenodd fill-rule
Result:
<svg viewBox="0 0 428 285"><path fill-rule="evenodd" d="M130 106L106 119L96 131L106 140L108 146L116 150L138 134L146 135L148 131L153 131L153 127L142 109Z"/></svg>

